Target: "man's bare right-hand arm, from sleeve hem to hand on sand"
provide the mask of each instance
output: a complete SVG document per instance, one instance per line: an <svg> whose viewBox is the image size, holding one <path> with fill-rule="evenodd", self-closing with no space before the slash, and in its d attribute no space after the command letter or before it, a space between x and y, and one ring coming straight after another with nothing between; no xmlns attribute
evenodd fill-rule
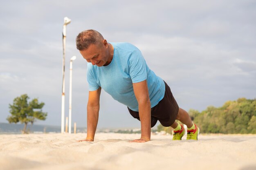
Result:
<svg viewBox="0 0 256 170"><path fill-rule="evenodd" d="M141 138L131 142L150 141L151 134L151 105L148 94L147 80L133 83L133 91L139 104L139 119L141 121Z"/></svg>

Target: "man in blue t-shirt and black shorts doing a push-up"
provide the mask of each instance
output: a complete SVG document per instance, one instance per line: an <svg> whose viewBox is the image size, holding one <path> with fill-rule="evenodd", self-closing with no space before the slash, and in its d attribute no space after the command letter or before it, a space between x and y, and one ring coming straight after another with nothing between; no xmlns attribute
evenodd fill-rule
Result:
<svg viewBox="0 0 256 170"><path fill-rule="evenodd" d="M186 124L187 139L197 140L199 128L189 114L179 108L169 86L151 71L141 52L129 43L108 43L95 30L82 31L76 37L76 48L88 62L87 137L94 141L99 118L101 88L115 100L128 106L132 117L141 121L141 138L131 142L150 141L151 127L157 120L174 128L173 140L181 140Z"/></svg>

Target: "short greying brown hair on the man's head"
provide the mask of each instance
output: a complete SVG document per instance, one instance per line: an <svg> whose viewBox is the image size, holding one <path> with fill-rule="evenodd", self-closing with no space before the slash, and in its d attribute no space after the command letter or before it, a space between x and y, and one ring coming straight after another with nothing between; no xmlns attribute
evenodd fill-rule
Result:
<svg viewBox="0 0 256 170"><path fill-rule="evenodd" d="M76 36L76 49L86 50L91 44L100 45L102 40L104 40L103 36L96 30L82 31Z"/></svg>

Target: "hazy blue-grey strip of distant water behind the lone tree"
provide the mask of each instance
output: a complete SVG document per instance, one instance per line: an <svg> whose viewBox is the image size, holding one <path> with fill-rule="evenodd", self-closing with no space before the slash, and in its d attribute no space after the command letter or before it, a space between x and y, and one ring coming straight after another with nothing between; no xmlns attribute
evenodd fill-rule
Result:
<svg viewBox="0 0 256 170"><path fill-rule="evenodd" d="M0 134L20 134L24 128L24 124L7 124L0 123ZM72 127L72 133L74 128ZM49 126L49 125L27 125L27 131L29 133L60 133L61 126ZM76 132L86 132L85 128L76 128Z"/></svg>

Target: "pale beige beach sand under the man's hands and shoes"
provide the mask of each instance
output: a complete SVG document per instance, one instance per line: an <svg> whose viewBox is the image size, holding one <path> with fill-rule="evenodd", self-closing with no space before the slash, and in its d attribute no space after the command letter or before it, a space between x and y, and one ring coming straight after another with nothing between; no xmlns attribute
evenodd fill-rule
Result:
<svg viewBox="0 0 256 170"><path fill-rule="evenodd" d="M152 135L97 133L0 135L0 170L256 170L256 135L199 135L171 141Z"/></svg>

